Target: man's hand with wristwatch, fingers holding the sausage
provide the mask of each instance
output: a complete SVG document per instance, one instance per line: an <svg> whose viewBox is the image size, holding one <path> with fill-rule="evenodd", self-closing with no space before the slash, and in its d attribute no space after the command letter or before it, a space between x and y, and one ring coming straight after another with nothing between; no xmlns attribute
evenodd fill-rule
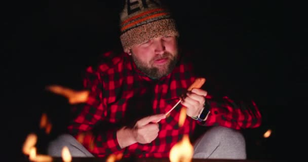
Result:
<svg viewBox="0 0 308 162"><path fill-rule="evenodd" d="M181 104L187 108L186 114L190 117L198 116L203 109L207 92L202 89L193 89L186 95L181 101Z"/></svg>

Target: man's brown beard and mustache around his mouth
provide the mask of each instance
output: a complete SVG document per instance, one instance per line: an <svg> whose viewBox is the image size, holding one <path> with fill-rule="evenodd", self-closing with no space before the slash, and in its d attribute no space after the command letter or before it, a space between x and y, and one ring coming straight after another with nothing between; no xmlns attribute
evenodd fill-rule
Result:
<svg viewBox="0 0 308 162"><path fill-rule="evenodd" d="M177 56L178 53L175 53L175 55L173 56L171 53L165 52L164 54L158 55L157 57L151 59L149 62L150 64L152 64L155 60L168 58L168 63L162 65L163 67L159 68L159 67L152 67L151 65L142 62L132 53L133 60L138 69L140 69L143 73L145 73L148 77L152 79L161 78L171 73L171 71L176 66Z"/></svg>

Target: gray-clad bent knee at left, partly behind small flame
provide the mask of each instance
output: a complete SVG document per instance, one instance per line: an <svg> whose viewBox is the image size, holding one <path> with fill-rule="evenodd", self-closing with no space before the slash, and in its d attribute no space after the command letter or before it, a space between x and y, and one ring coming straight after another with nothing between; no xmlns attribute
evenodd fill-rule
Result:
<svg viewBox="0 0 308 162"><path fill-rule="evenodd" d="M66 146L73 157L91 157L93 156L81 143L73 136L63 134L51 141L47 148L50 156L60 157L63 147Z"/></svg>

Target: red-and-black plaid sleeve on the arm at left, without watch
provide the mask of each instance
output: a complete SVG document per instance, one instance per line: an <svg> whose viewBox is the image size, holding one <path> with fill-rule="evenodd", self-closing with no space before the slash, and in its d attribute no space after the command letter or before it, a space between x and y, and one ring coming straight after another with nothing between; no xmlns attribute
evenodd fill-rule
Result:
<svg viewBox="0 0 308 162"><path fill-rule="evenodd" d="M96 156L106 156L110 153L121 151L117 140L117 130L105 130L96 132L94 126L104 121L107 115L106 106L102 100L102 88L100 74L94 72L92 67L86 71L83 79L84 88L90 91L88 100L80 105L80 110L68 125L68 132L73 135L89 152Z"/></svg>

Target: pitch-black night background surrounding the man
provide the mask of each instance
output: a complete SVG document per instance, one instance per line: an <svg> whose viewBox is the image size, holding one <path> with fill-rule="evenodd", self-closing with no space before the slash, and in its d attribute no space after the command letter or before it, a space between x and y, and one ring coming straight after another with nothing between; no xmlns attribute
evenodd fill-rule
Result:
<svg viewBox="0 0 308 162"><path fill-rule="evenodd" d="M180 41L196 53L195 62L215 89L253 99L262 125L244 130L249 159L286 159L292 147L296 107L292 98L306 82L299 52L301 10L281 1L168 1ZM81 90L83 70L98 55L121 48L119 1L6 2L2 81L2 135L5 155L23 158L29 133L38 135L38 151L64 131L67 100L44 88L51 84ZM283 8L284 7L284 8ZM286 10L283 10L286 9ZM295 46L294 46L295 45ZM296 90L296 92L295 92ZM306 104L305 104L306 105ZM300 105L300 106L305 106ZM38 128L47 113L53 130ZM271 129L270 138L263 133ZM298 137L297 137L298 138Z"/></svg>

